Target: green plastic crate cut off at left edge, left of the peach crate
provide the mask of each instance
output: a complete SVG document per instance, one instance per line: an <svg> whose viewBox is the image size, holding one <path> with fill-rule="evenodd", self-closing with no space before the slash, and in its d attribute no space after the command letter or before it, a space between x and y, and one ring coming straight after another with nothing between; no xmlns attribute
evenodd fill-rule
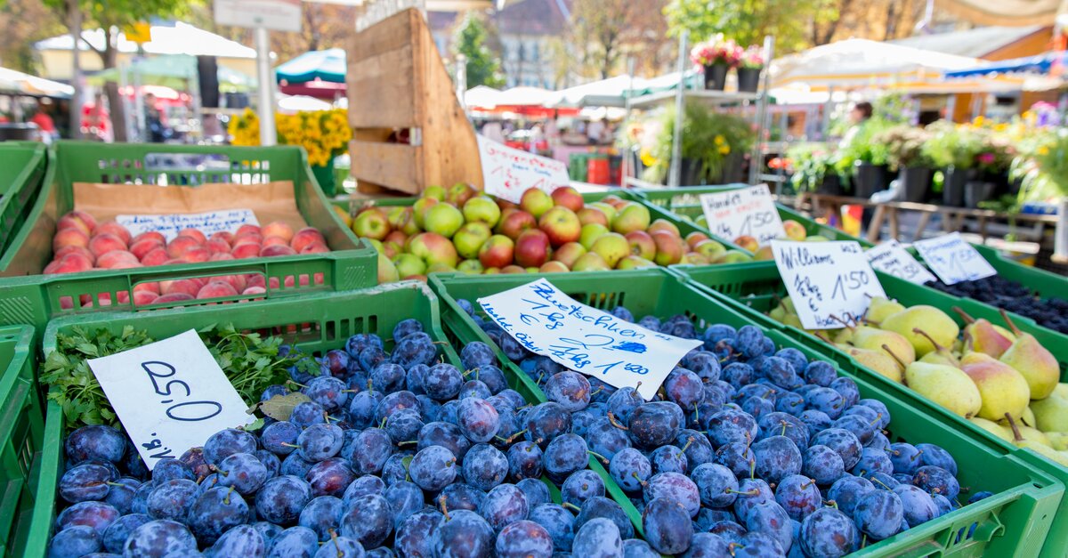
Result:
<svg viewBox="0 0 1068 558"><path fill-rule="evenodd" d="M0 142L0 253L26 222L47 167L44 144Z"/></svg>

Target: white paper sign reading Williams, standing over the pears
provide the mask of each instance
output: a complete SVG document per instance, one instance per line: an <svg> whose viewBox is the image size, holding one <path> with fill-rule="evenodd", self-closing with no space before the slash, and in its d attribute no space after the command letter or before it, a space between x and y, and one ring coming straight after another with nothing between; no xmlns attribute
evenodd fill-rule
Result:
<svg viewBox="0 0 1068 558"><path fill-rule="evenodd" d="M886 296L854 241L772 241L771 253L805 329L842 327L839 320L860 320L871 298Z"/></svg>

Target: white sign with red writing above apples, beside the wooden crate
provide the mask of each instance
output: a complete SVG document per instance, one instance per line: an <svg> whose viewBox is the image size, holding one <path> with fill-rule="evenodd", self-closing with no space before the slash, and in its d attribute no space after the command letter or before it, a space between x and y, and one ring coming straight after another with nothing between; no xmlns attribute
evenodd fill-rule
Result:
<svg viewBox="0 0 1068 558"><path fill-rule="evenodd" d="M563 161L514 150L482 136L478 136L478 158L486 193L513 203L519 203L529 188L552 192L570 184Z"/></svg>

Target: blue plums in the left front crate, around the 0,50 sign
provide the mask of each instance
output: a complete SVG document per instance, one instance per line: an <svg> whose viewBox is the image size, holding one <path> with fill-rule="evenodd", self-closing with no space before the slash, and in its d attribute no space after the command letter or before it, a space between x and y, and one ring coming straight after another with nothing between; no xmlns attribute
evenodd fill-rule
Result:
<svg viewBox="0 0 1068 558"><path fill-rule="evenodd" d="M85 367L80 341L50 360ZM142 342L108 339L93 353ZM355 335L317 358L263 342L296 360L257 397L264 417L152 472L120 430L73 430L48 556L548 558L643 544L587 468L575 403L524 401L487 344L462 346L461 367L443 362L414 319L392 339ZM559 381L577 401L591 396L579 374Z"/></svg>

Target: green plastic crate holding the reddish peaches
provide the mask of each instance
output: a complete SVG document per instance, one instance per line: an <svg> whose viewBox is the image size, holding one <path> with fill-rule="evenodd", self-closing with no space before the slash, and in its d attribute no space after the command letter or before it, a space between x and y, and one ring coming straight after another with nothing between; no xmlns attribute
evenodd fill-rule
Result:
<svg viewBox="0 0 1068 558"><path fill-rule="evenodd" d="M51 260L56 220L74 208L75 182L139 183L192 187L207 183L261 184L293 181L297 208L319 229L331 252L224 262L40 275ZM42 193L25 226L0 257L0 324L32 324L44 330L52 317L130 310L117 293L140 282L257 274L282 285L266 298L350 291L377 282L377 254L348 230L312 177L303 150L294 146L231 148L59 142ZM286 282L294 286L284 286ZM105 304L101 305L101 298ZM249 296L230 299L249 298ZM213 301L226 300L214 299ZM90 305L83 304L88 300ZM108 306L107 301L114 301ZM200 300L170 306L202 304ZM153 308L152 306L146 308Z"/></svg>

